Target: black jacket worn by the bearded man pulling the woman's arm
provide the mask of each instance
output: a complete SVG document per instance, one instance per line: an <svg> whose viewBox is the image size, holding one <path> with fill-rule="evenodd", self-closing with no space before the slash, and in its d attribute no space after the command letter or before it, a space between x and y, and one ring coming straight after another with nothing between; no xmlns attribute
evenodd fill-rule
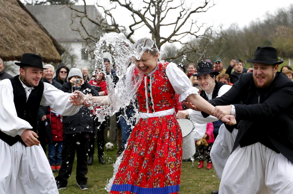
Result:
<svg viewBox="0 0 293 194"><path fill-rule="evenodd" d="M234 104L240 100L243 104ZM241 121L233 151L239 144L260 142L293 162L293 82L285 74L277 72L270 86L262 90L256 89L252 73L242 74L227 93L209 102L235 106Z"/></svg>

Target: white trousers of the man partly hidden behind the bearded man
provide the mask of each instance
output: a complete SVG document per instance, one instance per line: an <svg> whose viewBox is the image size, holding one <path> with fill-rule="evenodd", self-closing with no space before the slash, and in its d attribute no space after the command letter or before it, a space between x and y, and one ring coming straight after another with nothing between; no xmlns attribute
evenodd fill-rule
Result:
<svg viewBox="0 0 293 194"><path fill-rule="evenodd" d="M225 164L232 152L237 133L238 129L234 129L232 133L230 133L225 125L222 124L219 128L219 135L212 146L210 156L214 169L220 180L222 178Z"/></svg>

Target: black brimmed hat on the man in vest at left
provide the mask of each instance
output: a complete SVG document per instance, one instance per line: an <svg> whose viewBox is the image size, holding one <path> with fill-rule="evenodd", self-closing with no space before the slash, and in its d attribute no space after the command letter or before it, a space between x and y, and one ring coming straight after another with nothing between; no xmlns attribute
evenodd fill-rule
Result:
<svg viewBox="0 0 293 194"><path fill-rule="evenodd" d="M46 69L43 68L42 63L42 56L41 55L35 55L33 53L25 53L21 57L20 63L15 63L18 66L33 66L38 67L40 69Z"/></svg>

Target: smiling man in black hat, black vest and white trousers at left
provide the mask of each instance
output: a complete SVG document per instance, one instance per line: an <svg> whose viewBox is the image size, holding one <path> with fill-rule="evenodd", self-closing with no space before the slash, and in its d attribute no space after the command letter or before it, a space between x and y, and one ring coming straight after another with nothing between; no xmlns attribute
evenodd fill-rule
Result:
<svg viewBox="0 0 293 194"><path fill-rule="evenodd" d="M71 105L69 93L40 82L45 69L40 55L25 53L15 64L20 75L0 82L0 193L58 193L37 139L38 110L50 105L61 115L74 115L80 107Z"/></svg>

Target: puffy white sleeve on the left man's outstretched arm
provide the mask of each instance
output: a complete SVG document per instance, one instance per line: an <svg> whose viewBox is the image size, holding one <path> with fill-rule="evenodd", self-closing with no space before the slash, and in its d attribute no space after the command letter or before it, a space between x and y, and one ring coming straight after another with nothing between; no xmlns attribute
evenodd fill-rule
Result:
<svg viewBox="0 0 293 194"><path fill-rule="evenodd" d="M50 106L57 113L64 116L70 116L78 113L82 105L74 106L70 103L71 93L63 92L51 84L44 83L44 92L41 101L42 106Z"/></svg>

